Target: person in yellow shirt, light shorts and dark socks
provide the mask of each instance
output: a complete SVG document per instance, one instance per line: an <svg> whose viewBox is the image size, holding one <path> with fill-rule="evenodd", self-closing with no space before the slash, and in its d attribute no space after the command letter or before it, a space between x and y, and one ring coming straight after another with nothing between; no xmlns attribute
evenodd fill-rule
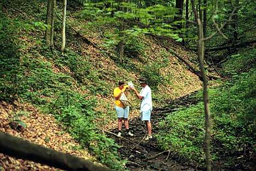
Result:
<svg viewBox="0 0 256 171"><path fill-rule="evenodd" d="M125 92L126 89L129 89L128 85L125 85L124 81L118 82L118 87L114 89L114 98L115 98L115 111L117 111L117 117L118 117L118 137L121 137L121 129L123 126L123 120L124 120L124 126L126 129L126 132L131 137L133 134L129 130L129 106L124 107L124 104L119 101L119 98L121 97L121 94Z"/></svg>

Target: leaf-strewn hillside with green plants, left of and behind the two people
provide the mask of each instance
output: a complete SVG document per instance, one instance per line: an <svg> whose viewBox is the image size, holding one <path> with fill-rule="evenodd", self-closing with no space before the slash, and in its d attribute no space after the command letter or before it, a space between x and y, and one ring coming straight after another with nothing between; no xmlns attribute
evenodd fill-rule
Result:
<svg viewBox="0 0 256 171"><path fill-rule="evenodd" d="M122 163L116 157L114 141L99 129L117 127L112 91L119 80L131 80L139 89L138 78L152 76L155 108L167 99L201 88L197 76L150 36L135 38L143 49L136 56L127 55L125 62L119 63L115 49L103 49L98 30L84 28L86 21L77 15L79 9L71 6L67 16L71 26L67 27L67 50L63 54L59 51L59 20L55 48L51 49L43 40L45 11L45 1L1 2L0 127L3 132L83 158L94 158L92 155L115 168ZM60 14L60 9L56 13ZM86 43L84 38L101 50ZM170 48L195 61L192 52L170 42ZM131 46L134 46L132 42ZM133 120L139 116L139 101L133 95L131 101L135 106L130 117ZM11 126L14 121L18 126ZM2 154L1 158L5 170L55 170Z"/></svg>

